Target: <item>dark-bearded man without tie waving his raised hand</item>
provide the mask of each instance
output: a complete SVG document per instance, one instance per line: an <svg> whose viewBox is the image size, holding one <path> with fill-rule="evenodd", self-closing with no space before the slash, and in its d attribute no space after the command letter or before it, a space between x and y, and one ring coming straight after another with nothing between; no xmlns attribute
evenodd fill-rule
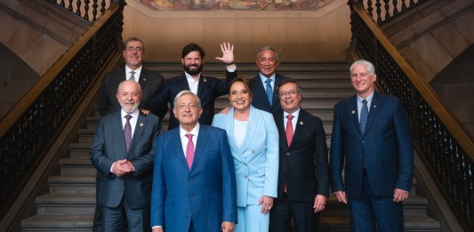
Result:
<svg viewBox="0 0 474 232"><path fill-rule="evenodd" d="M222 57L216 57L226 64L226 81L222 82L213 76L204 76L204 50L197 44L187 44L181 52L181 63L184 73L166 81L165 87L150 102L151 112L163 118L166 114L167 104L170 102L173 108L173 99L178 92L189 90L199 97L202 103L203 114L199 118L201 124L212 124L214 116L215 99L229 93L229 82L237 77L236 65L234 64L234 45L221 44ZM176 117L170 115L168 130L178 127Z"/></svg>

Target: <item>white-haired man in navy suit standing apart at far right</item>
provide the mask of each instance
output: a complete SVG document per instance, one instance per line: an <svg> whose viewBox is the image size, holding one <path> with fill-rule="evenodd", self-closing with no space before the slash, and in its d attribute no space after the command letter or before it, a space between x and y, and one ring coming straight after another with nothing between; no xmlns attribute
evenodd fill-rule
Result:
<svg viewBox="0 0 474 232"><path fill-rule="evenodd" d="M357 95L334 106L333 193L349 204L351 231L404 231L414 148L403 103L374 92L372 63L357 60L349 70Z"/></svg>

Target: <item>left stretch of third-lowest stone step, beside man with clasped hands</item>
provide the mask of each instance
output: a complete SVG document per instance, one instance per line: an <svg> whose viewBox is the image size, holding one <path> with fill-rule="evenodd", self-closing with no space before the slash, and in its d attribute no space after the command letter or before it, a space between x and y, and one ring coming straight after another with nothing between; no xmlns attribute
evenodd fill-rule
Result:
<svg viewBox="0 0 474 232"><path fill-rule="evenodd" d="M53 194L95 194L95 175L59 175L48 180Z"/></svg>

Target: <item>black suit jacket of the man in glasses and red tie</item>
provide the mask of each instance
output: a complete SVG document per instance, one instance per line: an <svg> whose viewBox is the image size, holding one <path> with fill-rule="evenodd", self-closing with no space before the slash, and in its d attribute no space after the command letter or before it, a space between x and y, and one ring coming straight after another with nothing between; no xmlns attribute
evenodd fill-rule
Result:
<svg viewBox="0 0 474 232"><path fill-rule="evenodd" d="M329 164L325 129L321 119L300 109L292 144L288 146L283 110L273 114L280 140L278 197L285 190L295 202L314 203L317 195L329 195Z"/></svg>

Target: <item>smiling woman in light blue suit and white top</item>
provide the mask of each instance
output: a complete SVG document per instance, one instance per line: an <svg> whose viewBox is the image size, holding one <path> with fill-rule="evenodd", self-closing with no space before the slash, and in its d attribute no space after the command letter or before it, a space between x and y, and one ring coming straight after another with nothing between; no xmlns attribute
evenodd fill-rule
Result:
<svg viewBox="0 0 474 232"><path fill-rule="evenodd" d="M234 231L269 231L269 211L277 197L278 131L273 116L253 108L247 80L229 84L229 114L214 116L213 126L227 131L237 179Z"/></svg>

